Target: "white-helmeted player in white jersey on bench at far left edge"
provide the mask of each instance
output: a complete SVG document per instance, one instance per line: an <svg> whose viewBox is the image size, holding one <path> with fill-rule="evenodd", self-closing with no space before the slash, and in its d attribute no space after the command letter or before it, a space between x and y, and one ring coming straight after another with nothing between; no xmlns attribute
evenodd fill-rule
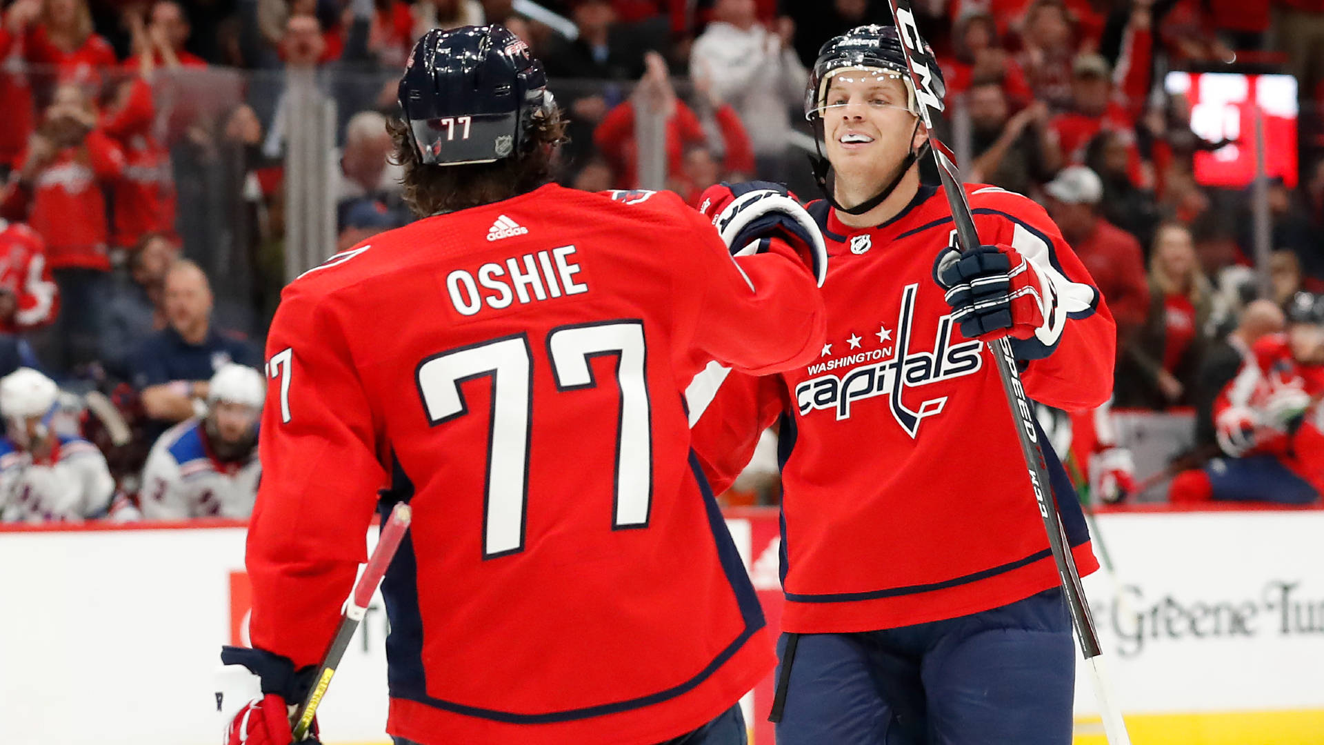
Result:
<svg viewBox="0 0 1324 745"><path fill-rule="evenodd" d="M0 521L81 521L105 514L115 492L106 457L52 428L60 387L30 367L0 378Z"/></svg>

